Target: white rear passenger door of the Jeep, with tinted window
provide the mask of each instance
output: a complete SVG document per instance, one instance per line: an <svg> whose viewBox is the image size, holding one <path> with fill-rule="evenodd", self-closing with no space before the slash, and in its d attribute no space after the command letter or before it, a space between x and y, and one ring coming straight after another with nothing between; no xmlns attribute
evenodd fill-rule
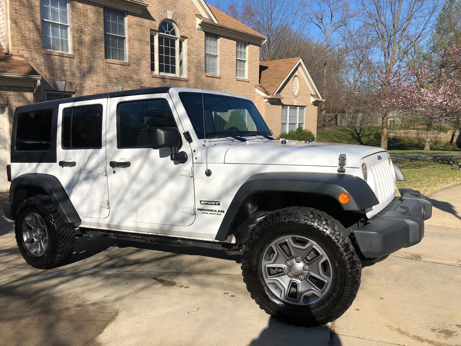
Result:
<svg viewBox="0 0 461 346"><path fill-rule="evenodd" d="M80 217L109 215L106 107L106 98L59 105L58 176Z"/></svg>

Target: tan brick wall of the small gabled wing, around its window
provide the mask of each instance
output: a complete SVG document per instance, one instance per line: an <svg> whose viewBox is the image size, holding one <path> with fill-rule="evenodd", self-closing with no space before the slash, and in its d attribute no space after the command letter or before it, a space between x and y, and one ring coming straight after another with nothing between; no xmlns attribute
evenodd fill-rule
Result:
<svg viewBox="0 0 461 346"><path fill-rule="evenodd" d="M311 104L311 92L301 73L298 73L298 95L293 94L292 81L295 73L296 71L290 75L287 82L282 86L280 91L280 94L284 97L282 100L265 102L264 117L274 136L278 136L282 126L282 106L305 106L304 128L312 131L317 136L317 106Z"/></svg>

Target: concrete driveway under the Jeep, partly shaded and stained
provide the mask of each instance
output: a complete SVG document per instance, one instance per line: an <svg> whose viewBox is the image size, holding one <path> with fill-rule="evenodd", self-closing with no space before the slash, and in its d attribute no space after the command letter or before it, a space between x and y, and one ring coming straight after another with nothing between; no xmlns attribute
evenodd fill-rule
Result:
<svg viewBox="0 0 461 346"><path fill-rule="evenodd" d="M434 195L440 210L423 241L364 263L354 304L318 328L260 310L239 257L79 238L70 262L37 270L3 218L0 344L461 346L461 185Z"/></svg>

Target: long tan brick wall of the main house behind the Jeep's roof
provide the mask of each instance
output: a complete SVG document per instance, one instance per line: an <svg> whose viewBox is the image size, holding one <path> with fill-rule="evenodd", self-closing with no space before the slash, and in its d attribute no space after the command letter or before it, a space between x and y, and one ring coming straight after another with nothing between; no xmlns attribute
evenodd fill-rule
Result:
<svg viewBox="0 0 461 346"><path fill-rule="evenodd" d="M111 63L104 57L103 6L92 1L71 1L71 54L44 52L41 43L40 0L10 2L12 54L24 55L43 76L35 101L44 101L46 90L65 81L66 91L76 96L114 91L115 86L137 89L140 86L174 86L213 89L243 95L255 100L254 85L259 79L259 46L248 45L248 80L236 80L236 40L219 39L220 78L205 76L205 34L196 29L197 8L190 0L154 1L142 14L128 12L128 62ZM166 10L180 35L187 37L187 78L151 75L150 30L157 30ZM25 20L24 18L27 18Z"/></svg>

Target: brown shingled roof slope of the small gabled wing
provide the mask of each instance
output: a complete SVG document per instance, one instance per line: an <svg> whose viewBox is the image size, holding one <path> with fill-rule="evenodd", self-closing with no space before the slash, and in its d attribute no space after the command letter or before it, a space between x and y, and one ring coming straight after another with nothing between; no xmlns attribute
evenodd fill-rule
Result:
<svg viewBox="0 0 461 346"><path fill-rule="evenodd" d="M278 86L300 59L290 58L260 62L260 86L267 90L267 95L274 95Z"/></svg>

